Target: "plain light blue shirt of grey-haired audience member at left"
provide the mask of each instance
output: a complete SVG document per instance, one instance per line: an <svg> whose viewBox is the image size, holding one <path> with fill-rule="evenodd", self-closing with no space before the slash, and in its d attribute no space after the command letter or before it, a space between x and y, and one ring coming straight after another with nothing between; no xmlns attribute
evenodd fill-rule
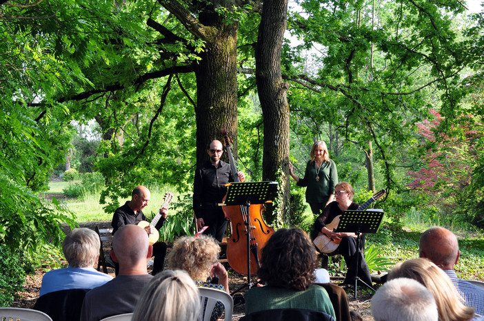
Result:
<svg viewBox="0 0 484 321"><path fill-rule="evenodd" d="M92 267L66 267L48 271L42 278L40 295L68 289L94 289L112 280L112 276Z"/></svg>

